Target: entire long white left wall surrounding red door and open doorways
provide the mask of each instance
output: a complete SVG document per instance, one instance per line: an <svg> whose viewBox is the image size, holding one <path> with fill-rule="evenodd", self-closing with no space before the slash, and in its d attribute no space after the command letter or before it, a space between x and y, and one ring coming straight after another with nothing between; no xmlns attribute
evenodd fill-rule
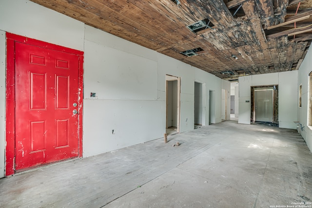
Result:
<svg viewBox="0 0 312 208"><path fill-rule="evenodd" d="M194 129L194 82L215 92L215 121L221 122L221 79L117 38L28 0L0 1L0 30L84 51L83 156L163 137L166 75L181 77L180 132ZM5 20L4 20L5 19ZM5 53L0 33L0 145L4 138ZM96 97L90 97L90 93ZM208 124L209 111L205 111ZM112 133L114 130L114 134ZM0 148L0 177L4 151Z"/></svg>

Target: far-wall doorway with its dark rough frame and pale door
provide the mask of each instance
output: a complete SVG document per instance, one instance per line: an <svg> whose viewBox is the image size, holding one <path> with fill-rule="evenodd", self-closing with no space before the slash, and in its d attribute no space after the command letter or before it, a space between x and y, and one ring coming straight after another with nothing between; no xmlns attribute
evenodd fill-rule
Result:
<svg viewBox="0 0 312 208"><path fill-rule="evenodd" d="M278 125L278 85L251 87L251 121Z"/></svg>

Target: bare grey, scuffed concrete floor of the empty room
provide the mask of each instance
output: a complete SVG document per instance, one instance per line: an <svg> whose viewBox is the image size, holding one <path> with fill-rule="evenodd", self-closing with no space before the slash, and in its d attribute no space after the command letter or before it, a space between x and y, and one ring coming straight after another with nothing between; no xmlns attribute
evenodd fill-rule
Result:
<svg viewBox="0 0 312 208"><path fill-rule="evenodd" d="M2 178L0 207L312 207L312 153L295 130L224 121L168 140Z"/></svg>

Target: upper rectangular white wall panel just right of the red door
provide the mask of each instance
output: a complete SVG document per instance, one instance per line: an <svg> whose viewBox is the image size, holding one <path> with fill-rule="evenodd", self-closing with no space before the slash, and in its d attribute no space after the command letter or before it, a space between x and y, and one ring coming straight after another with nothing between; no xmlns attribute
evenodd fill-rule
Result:
<svg viewBox="0 0 312 208"><path fill-rule="evenodd" d="M157 63L85 41L85 98L156 100Z"/></svg>

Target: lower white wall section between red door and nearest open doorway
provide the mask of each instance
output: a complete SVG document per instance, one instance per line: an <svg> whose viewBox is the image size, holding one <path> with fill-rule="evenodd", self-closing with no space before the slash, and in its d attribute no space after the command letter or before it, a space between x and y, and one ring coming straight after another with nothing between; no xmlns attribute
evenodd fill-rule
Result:
<svg viewBox="0 0 312 208"><path fill-rule="evenodd" d="M163 101L84 100L83 156L163 137L165 113Z"/></svg>

